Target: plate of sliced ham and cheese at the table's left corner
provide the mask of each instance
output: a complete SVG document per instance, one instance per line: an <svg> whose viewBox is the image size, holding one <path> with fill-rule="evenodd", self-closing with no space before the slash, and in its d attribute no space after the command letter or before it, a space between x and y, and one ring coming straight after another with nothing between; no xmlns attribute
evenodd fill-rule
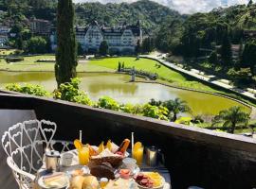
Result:
<svg viewBox="0 0 256 189"><path fill-rule="evenodd" d="M62 189L68 187L69 178L64 172L55 172L42 176L38 184L44 189Z"/></svg>

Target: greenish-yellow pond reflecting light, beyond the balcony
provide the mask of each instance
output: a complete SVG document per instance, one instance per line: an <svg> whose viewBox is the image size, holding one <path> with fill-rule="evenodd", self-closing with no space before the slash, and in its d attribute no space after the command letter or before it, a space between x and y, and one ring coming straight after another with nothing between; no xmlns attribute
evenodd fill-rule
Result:
<svg viewBox="0 0 256 189"><path fill-rule="evenodd" d="M82 78L81 89L93 100L108 95L120 103L136 104L146 103L151 98L163 101L179 97L188 102L193 114L217 114L232 106L243 106L249 112L246 106L221 96L180 90L160 84L132 83L126 75L82 73L78 77ZM0 72L0 86L12 82L40 84L48 91L56 88L54 73Z"/></svg>

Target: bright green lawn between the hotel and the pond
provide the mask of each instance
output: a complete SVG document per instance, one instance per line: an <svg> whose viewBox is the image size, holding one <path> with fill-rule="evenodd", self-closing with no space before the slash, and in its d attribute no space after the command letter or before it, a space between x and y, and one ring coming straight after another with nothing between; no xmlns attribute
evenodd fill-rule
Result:
<svg viewBox="0 0 256 189"><path fill-rule="evenodd" d="M25 60L14 63L7 63L5 60L0 60L0 70L9 71L54 71L53 62L36 62L37 60L54 60L54 55L42 55L25 57ZM199 81L195 81L189 77L185 77L163 65L155 60L139 59L132 57L121 58L107 58L98 60L82 60L80 61L78 72L115 72L118 68L119 62L123 63L125 67L133 67L137 70L157 73L158 81L172 84L178 87L186 87L191 89L203 90L208 92L220 92L212 89ZM223 93L224 94L224 93Z"/></svg>

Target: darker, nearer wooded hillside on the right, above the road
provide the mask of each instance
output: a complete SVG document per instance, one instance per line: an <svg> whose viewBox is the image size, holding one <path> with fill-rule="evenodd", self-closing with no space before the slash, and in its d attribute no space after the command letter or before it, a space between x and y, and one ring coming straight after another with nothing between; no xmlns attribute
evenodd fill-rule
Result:
<svg viewBox="0 0 256 189"><path fill-rule="evenodd" d="M174 50L186 57L197 57L205 53L200 48L211 49L221 45L226 34L230 43L245 42L247 39L244 38L244 31L253 29L256 29L256 4L240 5L228 9L213 9L209 13L192 14L182 26L177 22L168 22L161 26L157 42L161 42L161 39L163 42L172 41L174 33L180 34L177 35L180 43L169 43L168 50ZM163 43L158 48L166 50L166 44Z"/></svg>

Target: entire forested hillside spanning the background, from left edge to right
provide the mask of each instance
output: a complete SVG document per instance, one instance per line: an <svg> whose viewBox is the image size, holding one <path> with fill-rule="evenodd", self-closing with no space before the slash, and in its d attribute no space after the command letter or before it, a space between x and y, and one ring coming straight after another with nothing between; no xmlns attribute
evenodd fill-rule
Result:
<svg viewBox="0 0 256 189"><path fill-rule="evenodd" d="M36 17L52 21L54 26L56 7L57 0L0 0L0 21L21 24ZM135 24L139 19L143 30L154 38L158 50L185 57L201 56L204 52L200 48L221 45L226 34L231 43L241 43L245 40L245 29L256 29L256 5L252 3L192 15L180 15L149 0L132 4L76 4L75 11L76 24L80 26L93 20L104 26Z"/></svg>

